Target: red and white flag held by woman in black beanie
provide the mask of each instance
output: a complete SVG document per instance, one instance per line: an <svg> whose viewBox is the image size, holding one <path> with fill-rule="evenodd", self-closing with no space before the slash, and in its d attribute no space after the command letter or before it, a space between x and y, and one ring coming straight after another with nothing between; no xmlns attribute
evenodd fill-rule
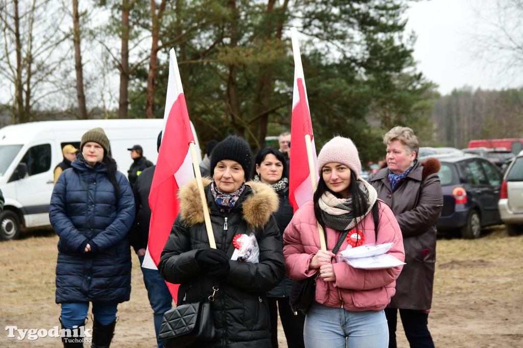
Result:
<svg viewBox="0 0 523 348"><path fill-rule="evenodd" d="M158 153L149 194L151 223L147 251L156 266L160 262L160 256L179 212L176 195L178 189L195 178L189 151L189 143L195 143L193 134L181 86L176 53L172 49L170 50L162 145ZM167 286L174 301L177 302L179 284L167 283Z"/></svg>

